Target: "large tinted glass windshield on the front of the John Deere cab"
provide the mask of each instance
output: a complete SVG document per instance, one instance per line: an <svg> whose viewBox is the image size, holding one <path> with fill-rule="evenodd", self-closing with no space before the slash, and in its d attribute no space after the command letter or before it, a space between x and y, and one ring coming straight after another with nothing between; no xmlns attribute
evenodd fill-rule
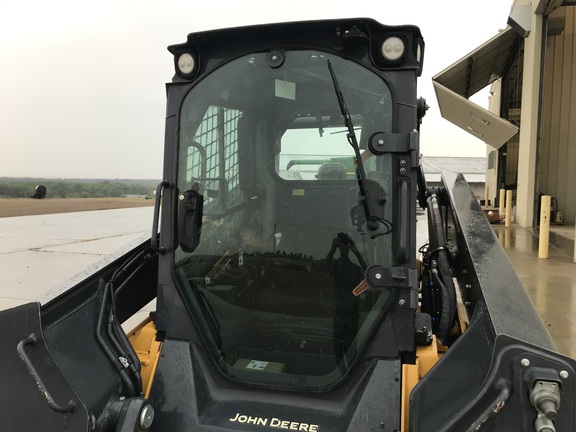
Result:
<svg viewBox="0 0 576 432"><path fill-rule="evenodd" d="M374 72L316 51L253 54L202 79L182 105L178 188L198 190L204 211L198 247L175 252L176 283L236 381L337 384L393 295L361 292L367 266L393 264L392 240L388 226L366 229L327 59L372 211L391 220L391 158L367 150L371 135L392 130L390 90Z"/></svg>

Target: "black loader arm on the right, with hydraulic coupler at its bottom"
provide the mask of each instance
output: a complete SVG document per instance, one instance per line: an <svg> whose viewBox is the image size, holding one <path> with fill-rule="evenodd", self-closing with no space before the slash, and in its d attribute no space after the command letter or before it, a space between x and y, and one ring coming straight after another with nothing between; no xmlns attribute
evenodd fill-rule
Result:
<svg viewBox="0 0 576 432"><path fill-rule="evenodd" d="M572 430L576 363L557 352L464 177L444 172L443 185L454 278L471 322L412 391L410 431L539 430L535 421ZM539 386L558 389L555 407L538 399Z"/></svg>

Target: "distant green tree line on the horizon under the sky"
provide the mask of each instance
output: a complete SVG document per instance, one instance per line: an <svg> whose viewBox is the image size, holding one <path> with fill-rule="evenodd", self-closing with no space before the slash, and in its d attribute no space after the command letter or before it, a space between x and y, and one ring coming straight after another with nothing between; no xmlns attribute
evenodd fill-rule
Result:
<svg viewBox="0 0 576 432"><path fill-rule="evenodd" d="M38 182L32 181L0 181L0 198L28 198L34 195ZM43 181L46 186L47 198L114 198L126 195L152 195L150 184L130 184L116 181Z"/></svg>

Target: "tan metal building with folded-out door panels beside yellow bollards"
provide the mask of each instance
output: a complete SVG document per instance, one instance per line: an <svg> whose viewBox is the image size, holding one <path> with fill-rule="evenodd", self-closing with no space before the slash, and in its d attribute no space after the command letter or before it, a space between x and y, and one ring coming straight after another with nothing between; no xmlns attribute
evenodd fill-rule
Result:
<svg viewBox="0 0 576 432"><path fill-rule="evenodd" d="M514 191L516 222L550 195L576 221L576 0L516 0L508 26L433 78L442 116L487 144L486 190ZM468 98L488 85L489 111Z"/></svg>

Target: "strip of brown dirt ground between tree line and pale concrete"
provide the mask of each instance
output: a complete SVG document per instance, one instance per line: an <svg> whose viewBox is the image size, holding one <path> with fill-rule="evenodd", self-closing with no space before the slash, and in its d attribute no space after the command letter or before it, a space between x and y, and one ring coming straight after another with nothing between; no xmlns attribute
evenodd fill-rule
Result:
<svg viewBox="0 0 576 432"><path fill-rule="evenodd" d="M0 198L0 217L153 206L145 198Z"/></svg>

